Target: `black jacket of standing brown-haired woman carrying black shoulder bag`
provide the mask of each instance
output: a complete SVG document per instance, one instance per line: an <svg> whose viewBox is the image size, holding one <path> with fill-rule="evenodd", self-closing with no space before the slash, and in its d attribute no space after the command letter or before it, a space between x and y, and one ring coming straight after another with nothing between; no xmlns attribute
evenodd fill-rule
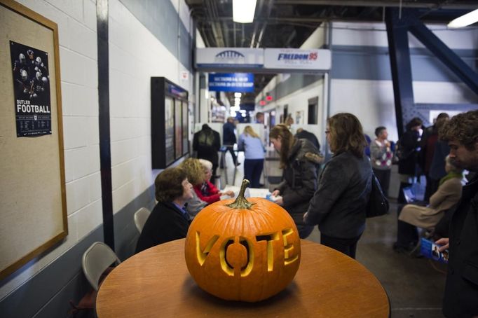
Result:
<svg viewBox="0 0 478 318"><path fill-rule="evenodd" d="M330 237L358 237L365 229L370 191L369 158L357 158L347 151L334 155L320 174L306 223L318 224L320 233Z"/></svg>

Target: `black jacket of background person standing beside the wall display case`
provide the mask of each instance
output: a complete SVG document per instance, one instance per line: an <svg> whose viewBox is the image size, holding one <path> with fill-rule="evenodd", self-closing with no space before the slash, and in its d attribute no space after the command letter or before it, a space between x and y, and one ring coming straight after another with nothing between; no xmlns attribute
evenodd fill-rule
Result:
<svg viewBox="0 0 478 318"><path fill-rule="evenodd" d="M219 132L212 130L211 127L205 127L196 132L193 137L193 151L198 152L198 158L209 160L212 165L219 162L217 152L221 148L221 137Z"/></svg>

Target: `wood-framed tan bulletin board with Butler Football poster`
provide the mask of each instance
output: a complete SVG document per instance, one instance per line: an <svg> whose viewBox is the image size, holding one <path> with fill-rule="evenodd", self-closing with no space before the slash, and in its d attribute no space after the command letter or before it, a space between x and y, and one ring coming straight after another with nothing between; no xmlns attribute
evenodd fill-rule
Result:
<svg viewBox="0 0 478 318"><path fill-rule="evenodd" d="M55 22L0 0L0 279L68 234Z"/></svg>

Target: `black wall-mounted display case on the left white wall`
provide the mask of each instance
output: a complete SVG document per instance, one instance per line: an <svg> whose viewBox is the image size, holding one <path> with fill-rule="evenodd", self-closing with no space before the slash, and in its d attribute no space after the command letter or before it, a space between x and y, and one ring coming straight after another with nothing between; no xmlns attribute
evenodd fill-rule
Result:
<svg viewBox="0 0 478 318"><path fill-rule="evenodd" d="M151 164L164 169L189 153L188 92L164 77L151 77Z"/></svg>

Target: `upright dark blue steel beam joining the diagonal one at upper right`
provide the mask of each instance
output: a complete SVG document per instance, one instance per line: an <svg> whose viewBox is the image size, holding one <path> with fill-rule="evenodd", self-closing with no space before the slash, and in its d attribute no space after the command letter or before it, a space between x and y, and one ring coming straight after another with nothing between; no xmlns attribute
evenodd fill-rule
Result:
<svg viewBox="0 0 478 318"><path fill-rule="evenodd" d="M393 97L398 136L402 137L404 123L402 110L414 106L414 89L411 78L411 62L408 37L409 17L400 17L396 8L387 8L387 26L390 68L392 71Z"/></svg>

